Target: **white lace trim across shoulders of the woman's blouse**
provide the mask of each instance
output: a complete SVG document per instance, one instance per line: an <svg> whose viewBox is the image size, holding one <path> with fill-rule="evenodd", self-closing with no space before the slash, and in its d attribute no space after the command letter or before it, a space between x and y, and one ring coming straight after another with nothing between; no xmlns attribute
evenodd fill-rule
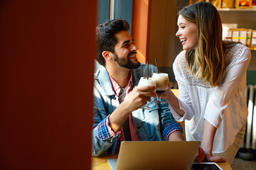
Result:
<svg viewBox="0 0 256 170"><path fill-rule="evenodd" d="M242 52L245 50L245 46L238 43L230 47L228 42L223 42L225 45L225 65L223 77L227 74L228 70L237 62L237 60L241 57ZM186 67L186 51L182 51L176 57L174 62L178 74L185 80L185 83L190 86L203 86L205 88L210 88L210 85L203 81L203 79L196 79L193 75L189 74L188 69Z"/></svg>

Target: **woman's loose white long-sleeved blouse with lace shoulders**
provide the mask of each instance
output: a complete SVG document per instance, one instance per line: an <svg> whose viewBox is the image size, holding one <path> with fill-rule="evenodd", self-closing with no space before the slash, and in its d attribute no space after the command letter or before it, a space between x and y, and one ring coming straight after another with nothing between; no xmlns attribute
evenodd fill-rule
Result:
<svg viewBox="0 0 256 170"><path fill-rule="evenodd" d="M189 74L186 51L182 51L174 61L178 103L185 114L181 117L170 107L171 111L176 120L186 120L187 139L202 141L204 119L218 128L213 141L213 153L225 152L233 144L248 114L245 87L251 53L242 44L226 46L225 71L217 87L212 88L202 79L195 79Z"/></svg>

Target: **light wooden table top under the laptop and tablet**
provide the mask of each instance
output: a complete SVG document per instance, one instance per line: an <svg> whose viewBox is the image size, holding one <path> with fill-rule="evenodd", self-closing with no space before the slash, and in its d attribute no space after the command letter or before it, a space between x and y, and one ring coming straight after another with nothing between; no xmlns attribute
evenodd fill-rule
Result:
<svg viewBox="0 0 256 170"><path fill-rule="evenodd" d="M92 170L111 170L107 159L117 159L117 154L106 154L103 157L92 157ZM227 162L218 163L223 170L232 170Z"/></svg>

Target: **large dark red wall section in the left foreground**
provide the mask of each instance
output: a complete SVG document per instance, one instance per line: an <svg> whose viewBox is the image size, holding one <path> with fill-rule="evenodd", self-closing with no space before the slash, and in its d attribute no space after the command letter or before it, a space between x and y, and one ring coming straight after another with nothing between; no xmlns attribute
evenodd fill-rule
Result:
<svg viewBox="0 0 256 170"><path fill-rule="evenodd" d="M96 1L0 1L0 169L90 169Z"/></svg>

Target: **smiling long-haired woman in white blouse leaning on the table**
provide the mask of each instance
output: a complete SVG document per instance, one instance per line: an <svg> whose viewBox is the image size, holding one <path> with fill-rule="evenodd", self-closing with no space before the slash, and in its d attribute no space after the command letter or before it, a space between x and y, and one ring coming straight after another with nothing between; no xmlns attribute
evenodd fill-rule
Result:
<svg viewBox="0 0 256 170"><path fill-rule="evenodd" d="M174 74L179 98L171 91L163 98L176 120L186 120L186 139L201 141L198 162L231 164L245 134L250 50L222 40L220 16L212 4L192 4L178 14L176 36L183 51L174 62Z"/></svg>

